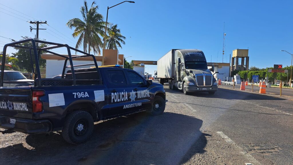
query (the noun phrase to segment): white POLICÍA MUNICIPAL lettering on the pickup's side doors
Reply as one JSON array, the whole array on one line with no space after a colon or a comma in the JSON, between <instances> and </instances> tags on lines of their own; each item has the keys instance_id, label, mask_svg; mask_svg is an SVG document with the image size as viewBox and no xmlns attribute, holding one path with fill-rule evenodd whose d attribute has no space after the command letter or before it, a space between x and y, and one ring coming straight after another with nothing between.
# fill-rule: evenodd
<instances>
[{"instance_id":1,"label":"white POLIC\u00cdA MUNICIPAL lettering on the pickup's side doors","mask_svg":"<svg viewBox=\"0 0 293 165\"><path fill-rule=\"evenodd\" d=\"M132 91L133 92L133 91ZM128 93L132 93L132 92L128 92ZM135 93L135 92L134 92ZM128 100L128 96L127 96L127 91L123 91L123 92L115 92L115 93L111 93L111 102L119 102L119 101L127 101ZM145 97L151 97L149 94L149 90L142 90L142 91L137 91L137 98L145 98Z\"/></svg>"}]
</instances>

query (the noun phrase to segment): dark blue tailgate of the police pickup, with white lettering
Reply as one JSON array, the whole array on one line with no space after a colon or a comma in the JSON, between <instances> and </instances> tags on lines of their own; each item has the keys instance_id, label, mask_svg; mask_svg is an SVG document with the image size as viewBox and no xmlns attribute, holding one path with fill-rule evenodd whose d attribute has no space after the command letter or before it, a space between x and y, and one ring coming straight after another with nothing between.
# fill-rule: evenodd
<instances>
[{"instance_id":1,"label":"dark blue tailgate of the police pickup, with white lettering","mask_svg":"<svg viewBox=\"0 0 293 165\"><path fill-rule=\"evenodd\" d=\"M31 87L0 88L0 115L33 118Z\"/></svg>"}]
</instances>

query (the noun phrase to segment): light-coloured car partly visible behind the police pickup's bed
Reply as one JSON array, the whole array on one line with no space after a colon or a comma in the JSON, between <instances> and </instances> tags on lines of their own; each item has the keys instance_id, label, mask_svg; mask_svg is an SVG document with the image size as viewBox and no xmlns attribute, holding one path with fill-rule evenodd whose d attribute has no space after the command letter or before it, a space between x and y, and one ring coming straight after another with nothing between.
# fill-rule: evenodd
<instances>
[{"instance_id":1,"label":"light-coloured car partly visible behind the police pickup's bed","mask_svg":"<svg viewBox=\"0 0 293 165\"><path fill-rule=\"evenodd\" d=\"M0 71L1 73L1 71ZM4 87L8 86L33 86L34 80L27 79L21 72L5 70L4 71L4 81L10 81L8 83L4 83ZM26 82L24 82L26 81Z\"/></svg>"}]
</instances>

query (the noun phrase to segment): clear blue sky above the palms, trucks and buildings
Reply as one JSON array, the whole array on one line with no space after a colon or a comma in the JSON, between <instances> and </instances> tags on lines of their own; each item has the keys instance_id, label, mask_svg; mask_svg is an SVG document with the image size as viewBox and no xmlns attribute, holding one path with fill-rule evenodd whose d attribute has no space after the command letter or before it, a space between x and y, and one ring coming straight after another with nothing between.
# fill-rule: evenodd
<instances>
[{"instance_id":1,"label":"clear blue sky above the palms, trucks and buildings","mask_svg":"<svg viewBox=\"0 0 293 165\"><path fill-rule=\"evenodd\" d=\"M98 12L106 19L107 6L113 6L121 1L97 0ZM292 0L134 1L135 4L123 3L109 9L108 15L108 22L118 24L122 35L127 38L126 45L123 45L119 52L125 57L132 56L127 58L128 61L132 59L158 60L171 49L201 49L207 61L222 62L225 22L224 62L229 62L229 54L232 54L232 50L248 48L250 66L265 68L272 67L273 64L286 66L291 63L290 55L280 50L293 53ZM88 1L88 4L91 2ZM35 31L33 31L34 34L30 33L29 26L32 25L25 21L28 19L33 21L35 18L47 21L50 26L44 26L52 30L40 30L40 38L74 46L77 39L71 37L73 30L67 28L65 24L71 18L81 18L79 9L82 5L82 0L1 0L0 35L15 40L21 39L20 36L33 38ZM40 28L45 27L40 26ZM9 40L0 37L0 43L5 42ZM0 44L0 46L3 45ZM10 49L8 52L14 52L14 50ZM154 70L156 66L146 67L146 71L151 74Z\"/></svg>"}]
</instances>

